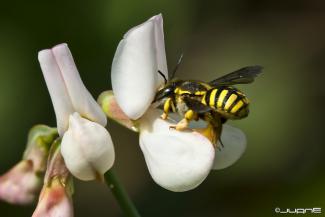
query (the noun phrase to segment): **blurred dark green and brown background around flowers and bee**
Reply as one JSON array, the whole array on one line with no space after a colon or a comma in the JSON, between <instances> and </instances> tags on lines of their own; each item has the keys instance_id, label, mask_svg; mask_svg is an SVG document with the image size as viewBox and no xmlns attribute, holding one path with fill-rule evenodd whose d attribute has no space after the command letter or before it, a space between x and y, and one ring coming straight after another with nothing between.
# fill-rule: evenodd
<instances>
[{"instance_id":1,"label":"blurred dark green and brown background around flowers and bee","mask_svg":"<svg viewBox=\"0 0 325 217\"><path fill-rule=\"evenodd\" d=\"M173 193L148 173L138 136L115 123L115 169L143 217L278 216L274 209L322 207L325 212L324 1L2 1L0 6L0 172L23 153L37 123L55 115L37 52L67 42L84 83L97 97L111 88L119 40L149 17L164 16L172 69L184 79L212 80L247 65L264 66L247 119L232 122L248 137L234 166L212 171L195 190ZM76 217L122 216L96 182L76 181ZM30 216L34 206L0 202L0 216ZM306 215L305 215L306 216Z\"/></svg>"}]
</instances>

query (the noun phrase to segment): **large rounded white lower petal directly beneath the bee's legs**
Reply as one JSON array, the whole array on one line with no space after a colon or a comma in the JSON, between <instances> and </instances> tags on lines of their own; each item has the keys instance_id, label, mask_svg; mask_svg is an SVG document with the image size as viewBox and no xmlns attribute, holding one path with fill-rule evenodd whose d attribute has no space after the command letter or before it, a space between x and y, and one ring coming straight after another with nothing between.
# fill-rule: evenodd
<instances>
[{"instance_id":1,"label":"large rounded white lower petal directly beneath the bee's legs","mask_svg":"<svg viewBox=\"0 0 325 217\"><path fill-rule=\"evenodd\" d=\"M148 111L141 119L140 147L154 181L171 191L188 191L209 174L215 149L196 132L170 130L174 123Z\"/></svg>"}]
</instances>

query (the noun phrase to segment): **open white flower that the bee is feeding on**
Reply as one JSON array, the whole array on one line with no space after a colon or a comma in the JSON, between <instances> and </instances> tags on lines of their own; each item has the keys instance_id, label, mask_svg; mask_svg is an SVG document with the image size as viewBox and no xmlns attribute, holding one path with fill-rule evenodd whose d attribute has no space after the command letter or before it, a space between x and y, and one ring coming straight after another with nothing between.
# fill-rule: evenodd
<instances>
[{"instance_id":1,"label":"open white flower that the bee is feeding on","mask_svg":"<svg viewBox=\"0 0 325 217\"><path fill-rule=\"evenodd\" d=\"M124 114L135 120L132 129L138 127L140 131L140 147L157 184L176 192L191 190L207 177L214 164L224 168L239 159L246 143L238 144L242 146L239 152L232 147L216 151L200 133L170 130L175 122L160 119L162 111L149 108L157 89L164 84L158 70L168 79L161 15L132 28L118 45L112 64L112 87L122 111L118 111L109 92L103 93L99 101L105 113L124 126L130 128Z\"/></svg>"}]
</instances>

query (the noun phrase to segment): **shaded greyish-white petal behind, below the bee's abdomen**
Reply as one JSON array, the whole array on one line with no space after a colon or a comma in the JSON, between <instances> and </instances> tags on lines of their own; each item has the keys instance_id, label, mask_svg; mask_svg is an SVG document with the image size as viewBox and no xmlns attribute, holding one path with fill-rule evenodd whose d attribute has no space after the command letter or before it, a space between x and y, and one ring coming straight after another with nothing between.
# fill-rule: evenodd
<instances>
[{"instance_id":1,"label":"shaded greyish-white petal behind, below the bee's abdomen","mask_svg":"<svg viewBox=\"0 0 325 217\"><path fill-rule=\"evenodd\" d=\"M219 170L234 164L245 152L246 136L238 128L224 124L221 132L221 142L224 145L216 150L213 169ZM220 144L218 144L221 147Z\"/></svg>"}]
</instances>

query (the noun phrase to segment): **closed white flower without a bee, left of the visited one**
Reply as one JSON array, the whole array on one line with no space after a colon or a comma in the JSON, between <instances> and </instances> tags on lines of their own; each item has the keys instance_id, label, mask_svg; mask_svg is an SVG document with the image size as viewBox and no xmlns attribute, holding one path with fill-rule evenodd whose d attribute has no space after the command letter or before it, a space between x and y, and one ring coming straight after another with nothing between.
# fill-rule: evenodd
<instances>
[{"instance_id":1,"label":"closed white flower without a bee, left of the visited one","mask_svg":"<svg viewBox=\"0 0 325 217\"><path fill-rule=\"evenodd\" d=\"M68 169L82 180L98 178L111 168L115 156L105 114L84 86L66 44L40 51L38 59Z\"/></svg>"}]
</instances>

